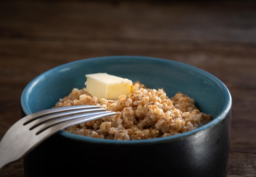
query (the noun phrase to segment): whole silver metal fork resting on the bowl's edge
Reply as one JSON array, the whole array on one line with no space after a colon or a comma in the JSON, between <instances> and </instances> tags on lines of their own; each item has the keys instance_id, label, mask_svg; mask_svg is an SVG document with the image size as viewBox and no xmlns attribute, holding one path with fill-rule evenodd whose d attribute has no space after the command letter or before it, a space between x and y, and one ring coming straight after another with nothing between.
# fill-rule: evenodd
<instances>
[{"instance_id":1,"label":"whole silver metal fork resting on the bowl's edge","mask_svg":"<svg viewBox=\"0 0 256 177\"><path fill-rule=\"evenodd\" d=\"M21 159L49 136L69 126L115 115L100 106L50 108L27 115L8 129L0 141L0 169Z\"/></svg>"}]
</instances>

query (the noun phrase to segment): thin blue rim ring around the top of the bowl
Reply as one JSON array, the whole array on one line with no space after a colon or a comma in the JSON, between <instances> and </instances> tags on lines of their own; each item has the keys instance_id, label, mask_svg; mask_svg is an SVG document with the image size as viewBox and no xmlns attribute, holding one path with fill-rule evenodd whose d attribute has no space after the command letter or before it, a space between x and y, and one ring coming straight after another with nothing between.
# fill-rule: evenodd
<instances>
[{"instance_id":1,"label":"thin blue rim ring around the top of the bowl","mask_svg":"<svg viewBox=\"0 0 256 177\"><path fill-rule=\"evenodd\" d=\"M76 135L73 133L68 133L68 132L64 132L64 131L60 131L57 134L64 136L66 138L69 139L75 139L78 141L85 141L85 142L91 142L91 143L96 143L96 144L154 144L154 143L159 143L159 142L170 142L173 141L175 139L180 139L180 138L184 138L184 137L188 137L191 135L196 135L197 133L202 132L204 129L207 129L211 126L215 126L216 124L218 124L219 122L221 122L223 119L225 119L225 117L227 117L227 115L229 114L229 112L231 112L231 107L232 107L232 97L231 97L231 93L229 91L229 89L227 88L227 86L220 80L218 79L216 76L212 75L211 73L204 71L198 67L189 65L189 64L185 64L182 62L177 62L174 60L167 60L164 58L155 58L155 57L147 57L147 56L136 56L136 55L110 55L110 56L102 56L102 57L94 57L94 58L85 58L85 59L81 59L81 60L76 60L76 61L72 61L72 62L67 62L65 64L61 64L58 65L52 69L49 69L43 73L41 73L40 75L36 76L33 80L31 80L23 89L21 97L20 97L20 104L21 104L21 108L22 111L25 113L25 115L29 115L32 113L32 111L29 109L29 107L25 104L25 100L27 99L26 93L29 92L29 89L31 86L33 86L34 84L37 83L37 80L42 77L43 75L50 73L50 72L54 72L56 70L59 69L63 69L66 66L69 66L70 64L77 64L80 62L85 62L88 61L90 62L91 60L106 60L106 59L110 59L110 58L124 58L124 59L128 59L128 58L136 58L136 59L140 59L140 60L157 60L157 61L161 61L161 62L168 62L168 63L176 63L176 64L180 64L180 65L184 65L186 67L190 67L193 70L197 70L198 72L203 73L204 75L208 75L209 77L211 77L213 80L215 80L216 82L218 82L218 84L220 84L220 86L222 87L222 90L225 92L224 95L225 97L225 104L224 104L224 108L222 109L222 111L220 111L219 115L217 115L217 117L215 117L213 120L211 120L210 122L208 122L207 124L204 124L203 126L200 126L199 128L196 128L194 130L191 131L187 131L181 134L177 134L177 135L171 135L168 137L159 137L159 138L152 138L152 139L141 139L141 140L129 140L129 141L124 141L124 140L114 140L114 139L99 139L99 138L93 138L93 137L85 137L85 136L81 136L81 135Z\"/></svg>"}]
</instances>

